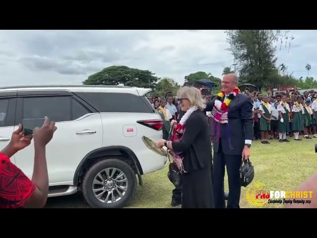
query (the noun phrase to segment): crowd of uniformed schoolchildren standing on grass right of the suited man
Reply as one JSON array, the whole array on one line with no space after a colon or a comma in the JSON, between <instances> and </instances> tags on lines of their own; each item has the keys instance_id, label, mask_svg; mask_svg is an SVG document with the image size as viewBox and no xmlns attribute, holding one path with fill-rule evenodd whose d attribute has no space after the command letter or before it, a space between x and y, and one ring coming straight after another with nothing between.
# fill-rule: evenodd
<instances>
[{"instance_id":1,"label":"crowd of uniformed schoolchildren standing on grass right of the suited man","mask_svg":"<svg viewBox=\"0 0 317 238\"><path fill-rule=\"evenodd\" d=\"M269 144L268 140L290 142L317 138L317 93L298 91L292 94L262 95L260 92L245 93L253 101L254 140ZM310 135L312 137L310 137Z\"/></svg>"}]
</instances>

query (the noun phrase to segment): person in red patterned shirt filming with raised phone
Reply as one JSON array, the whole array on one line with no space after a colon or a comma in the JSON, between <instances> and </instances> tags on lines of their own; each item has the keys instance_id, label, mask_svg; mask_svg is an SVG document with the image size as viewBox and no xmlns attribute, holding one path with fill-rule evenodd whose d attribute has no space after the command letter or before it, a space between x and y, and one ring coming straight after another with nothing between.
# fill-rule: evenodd
<instances>
[{"instance_id":1,"label":"person in red patterned shirt filming with raised phone","mask_svg":"<svg viewBox=\"0 0 317 238\"><path fill-rule=\"evenodd\" d=\"M11 182L26 184L26 188L21 190L16 186L15 190L4 189L0 193L0 208L42 208L45 206L49 192L46 146L52 140L56 129L55 122L45 117L44 119L23 119L22 124L19 124L18 129L12 133L9 144L0 152L0 158L2 164L3 162L7 164L5 168L11 168L8 172L11 175ZM10 157L29 146L32 139L34 140L34 168L31 180L11 163ZM17 200L12 203L5 192L17 194Z\"/></svg>"}]
</instances>

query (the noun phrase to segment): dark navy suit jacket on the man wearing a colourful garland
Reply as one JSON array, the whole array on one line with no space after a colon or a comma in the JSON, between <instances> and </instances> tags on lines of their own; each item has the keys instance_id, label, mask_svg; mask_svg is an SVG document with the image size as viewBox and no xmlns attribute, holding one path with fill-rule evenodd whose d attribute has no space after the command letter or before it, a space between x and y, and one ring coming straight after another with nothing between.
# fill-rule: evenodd
<instances>
[{"instance_id":1,"label":"dark navy suit jacket on the man wearing a colourful garland","mask_svg":"<svg viewBox=\"0 0 317 238\"><path fill-rule=\"evenodd\" d=\"M212 111L214 101L207 103L205 111ZM220 124L220 139L213 136L213 150L219 150L221 141L222 152L227 155L242 155L245 140L253 139L253 114L251 98L238 94L228 107L228 124ZM213 128L214 129L214 128ZM229 130L229 131L227 131ZM230 138L228 138L228 135ZM229 146L231 142L231 149Z\"/></svg>"}]
</instances>

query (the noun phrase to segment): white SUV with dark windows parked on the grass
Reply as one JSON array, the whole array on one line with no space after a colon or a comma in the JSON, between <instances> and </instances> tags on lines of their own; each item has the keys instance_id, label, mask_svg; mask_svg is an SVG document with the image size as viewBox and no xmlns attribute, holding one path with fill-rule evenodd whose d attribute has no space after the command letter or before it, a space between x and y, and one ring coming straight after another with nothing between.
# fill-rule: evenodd
<instances>
[{"instance_id":1,"label":"white SUV with dark windows parked on the grass","mask_svg":"<svg viewBox=\"0 0 317 238\"><path fill-rule=\"evenodd\" d=\"M48 116L57 131L47 146L49 197L81 190L92 207L124 206L136 176L164 168L167 158L149 150L142 136L162 138L163 122L145 94L126 86L0 88L0 150L23 119ZM11 158L32 177L34 146Z\"/></svg>"}]
</instances>

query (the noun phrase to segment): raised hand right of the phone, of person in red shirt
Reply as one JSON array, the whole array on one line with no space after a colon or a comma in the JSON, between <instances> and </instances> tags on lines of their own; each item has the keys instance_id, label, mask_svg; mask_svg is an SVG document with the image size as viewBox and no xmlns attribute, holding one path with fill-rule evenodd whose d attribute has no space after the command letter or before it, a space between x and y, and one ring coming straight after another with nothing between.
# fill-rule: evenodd
<instances>
[{"instance_id":1,"label":"raised hand right of the phone, of person in red shirt","mask_svg":"<svg viewBox=\"0 0 317 238\"><path fill-rule=\"evenodd\" d=\"M55 121L50 121L48 117L45 117L42 127L36 127L33 130L34 145L45 147L52 140L56 129Z\"/></svg>"}]
</instances>

